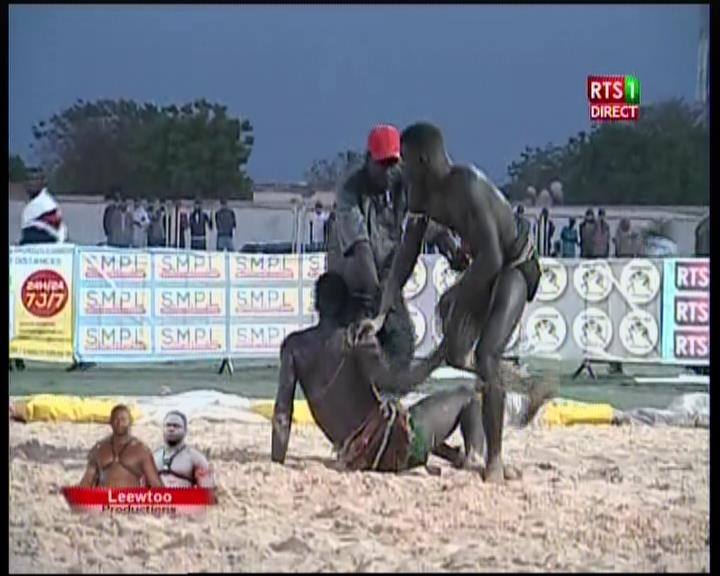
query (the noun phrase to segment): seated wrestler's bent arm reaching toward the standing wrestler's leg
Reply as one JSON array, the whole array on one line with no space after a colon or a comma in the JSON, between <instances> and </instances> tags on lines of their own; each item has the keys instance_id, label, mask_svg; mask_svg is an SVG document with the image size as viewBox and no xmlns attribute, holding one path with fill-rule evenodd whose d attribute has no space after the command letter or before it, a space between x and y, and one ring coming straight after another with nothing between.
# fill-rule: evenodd
<instances>
[{"instance_id":1,"label":"seated wrestler's bent arm reaching toward the standing wrestler's leg","mask_svg":"<svg viewBox=\"0 0 720 576\"><path fill-rule=\"evenodd\" d=\"M393 371L375 336L365 336L355 346L355 352L363 377L379 390L400 394L410 392L427 380L444 358L443 350L438 347L427 358L415 362L409 369Z\"/></svg>"}]
</instances>

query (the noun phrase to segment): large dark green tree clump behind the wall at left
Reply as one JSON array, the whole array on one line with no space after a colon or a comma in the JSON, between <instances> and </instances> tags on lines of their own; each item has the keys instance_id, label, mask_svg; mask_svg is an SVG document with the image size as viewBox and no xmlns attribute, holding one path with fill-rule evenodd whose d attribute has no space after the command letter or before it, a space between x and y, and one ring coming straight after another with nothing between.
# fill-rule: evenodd
<instances>
[{"instance_id":1,"label":"large dark green tree clump behind the wall at left","mask_svg":"<svg viewBox=\"0 0 720 576\"><path fill-rule=\"evenodd\" d=\"M33 127L35 148L59 192L252 198L249 120L204 99L181 107L78 100Z\"/></svg>"}]
</instances>

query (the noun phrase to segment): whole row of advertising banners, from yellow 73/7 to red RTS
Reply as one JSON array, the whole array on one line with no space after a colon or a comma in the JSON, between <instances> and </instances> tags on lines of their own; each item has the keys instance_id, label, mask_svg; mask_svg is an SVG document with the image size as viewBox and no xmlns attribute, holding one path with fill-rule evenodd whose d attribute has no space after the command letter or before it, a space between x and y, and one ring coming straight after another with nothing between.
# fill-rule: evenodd
<instances>
[{"instance_id":1,"label":"whole row of advertising banners, from yellow 73/7 to red RTS","mask_svg":"<svg viewBox=\"0 0 720 576\"><path fill-rule=\"evenodd\" d=\"M317 321L315 282L326 265L324 254L11 248L10 356L277 357L289 333ZM541 266L506 356L709 362L709 260L543 258ZM417 356L441 341L437 303L459 277L443 257L422 255L403 288Z\"/></svg>"}]
</instances>

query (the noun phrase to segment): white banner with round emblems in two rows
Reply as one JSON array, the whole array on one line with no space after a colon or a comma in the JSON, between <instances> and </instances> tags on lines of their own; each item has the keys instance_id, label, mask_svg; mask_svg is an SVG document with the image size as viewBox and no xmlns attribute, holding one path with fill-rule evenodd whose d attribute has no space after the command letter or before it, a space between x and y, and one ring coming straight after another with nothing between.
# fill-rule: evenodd
<instances>
[{"instance_id":1,"label":"white banner with round emblems in two rows","mask_svg":"<svg viewBox=\"0 0 720 576\"><path fill-rule=\"evenodd\" d=\"M427 355L442 339L435 310L459 278L441 256L423 256L404 288ZM662 270L650 260L541 259L543 275L533 302L510 335L506 356L542 356L582 362L661 358ZM427 327L430 327L428 329ZM422 337L420 337L422 335Z\"/></svg>"}]
</instances>

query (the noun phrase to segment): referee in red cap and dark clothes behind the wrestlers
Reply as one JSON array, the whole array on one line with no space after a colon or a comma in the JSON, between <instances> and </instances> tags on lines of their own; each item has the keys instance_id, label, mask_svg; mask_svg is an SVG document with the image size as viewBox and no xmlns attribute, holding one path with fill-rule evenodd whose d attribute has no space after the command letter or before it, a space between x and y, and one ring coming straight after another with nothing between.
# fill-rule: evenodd
<instances>
[{"instance_id":1,"label":"referee in red cap and dark clothes behind the wrestlers","mask_svg":"<svg viewBox=\"0 0 720 576\"><path fill-rule=\"evenodd\" d=\"M343 182L336 204L334 223L328 231L328 270L339 273L352 293L348 320L372 318L378 312L380 284L390 272L407 213L400 132L395 126L380 124L370 131L365 161ZM437 244L453 264L461 258L447 229L435 225L428 230L426 240ZM394 368L409 366L415 335L402 294L378 338Z\"/></svg>"}]
</instances>

